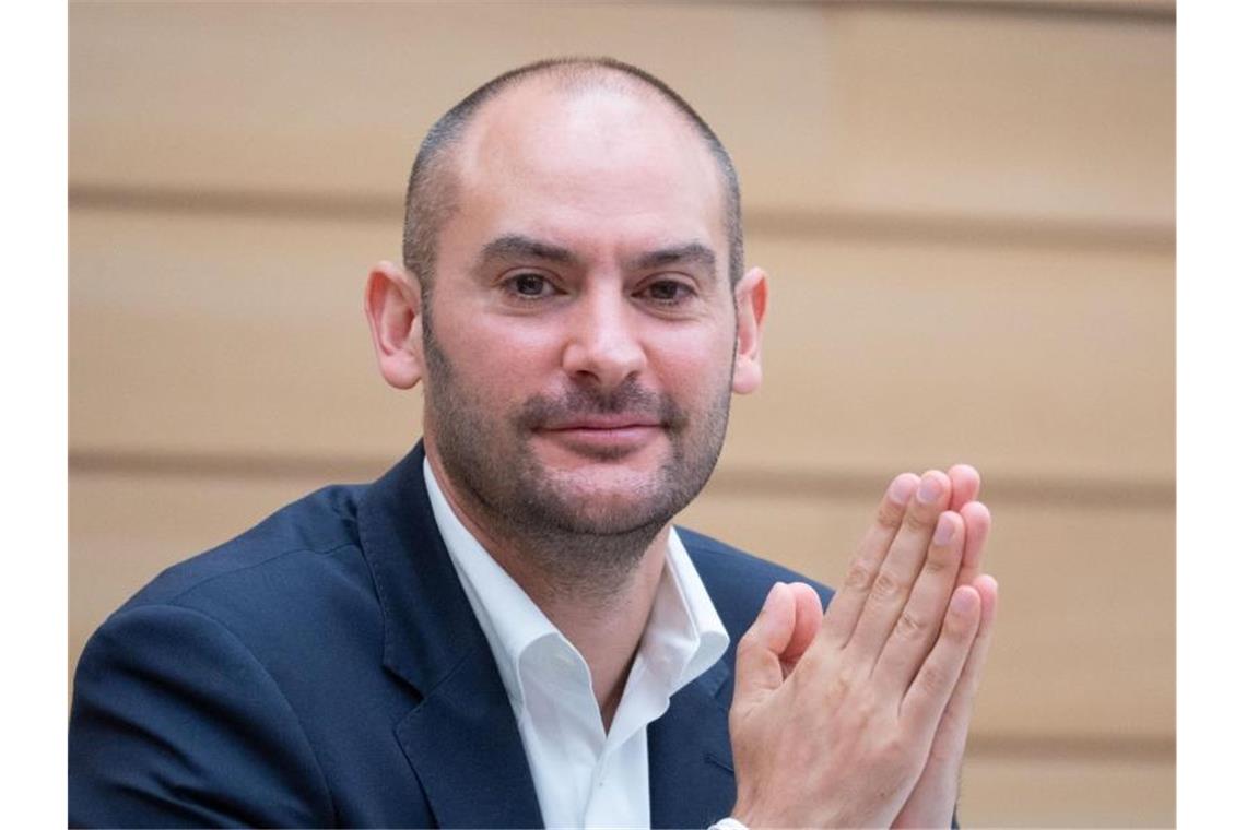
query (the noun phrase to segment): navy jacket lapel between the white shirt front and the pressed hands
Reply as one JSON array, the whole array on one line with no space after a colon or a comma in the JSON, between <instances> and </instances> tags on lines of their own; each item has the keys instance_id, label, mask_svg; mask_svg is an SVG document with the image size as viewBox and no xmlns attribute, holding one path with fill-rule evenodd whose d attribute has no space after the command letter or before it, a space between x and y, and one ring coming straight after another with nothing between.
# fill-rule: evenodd
<instances>
[{"instance_id":1,"label":"navy jacket lapel between the white shirt front and the pressed hands","mask_svg":"<svg viewBox=\"0 0 1246 830\"><path fill-rule=\"evenodd\" d=\"M735 804L726 712L730 669L719 661L670 698L649 724L649 821L654 828L708 828Z\"/></svg>"}]
</instances>

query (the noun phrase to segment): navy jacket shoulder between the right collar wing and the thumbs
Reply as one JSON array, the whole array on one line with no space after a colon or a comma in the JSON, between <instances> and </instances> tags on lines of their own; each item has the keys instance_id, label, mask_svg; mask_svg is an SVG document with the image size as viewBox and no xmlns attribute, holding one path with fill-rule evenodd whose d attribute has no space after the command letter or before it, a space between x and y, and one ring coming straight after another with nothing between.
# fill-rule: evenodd
<instances>
[{"instance_id":1,"label":"navy jacket shoulder between the right collar wing and the thumbs","mask_svg":"<svg viewBox=\"0 0 1246 830\"><path fill-rule=\"evenodd\" d=\"M678 528L678 533L733 640L753 625L775 582L807 582L822 599L824 607L831 601L830 587L790 567L688 528Z\"/></svg>"}]
</instances>

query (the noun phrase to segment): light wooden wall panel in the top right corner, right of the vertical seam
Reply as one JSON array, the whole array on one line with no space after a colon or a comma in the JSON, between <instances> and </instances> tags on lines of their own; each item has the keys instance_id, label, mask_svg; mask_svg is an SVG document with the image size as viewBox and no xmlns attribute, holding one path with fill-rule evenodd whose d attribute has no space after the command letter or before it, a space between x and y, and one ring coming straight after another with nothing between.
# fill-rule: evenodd
<instances>
[{"instance_id":1,"label":"light wooden wall panel in the top right corner, right of the vertical seam","mask_svg":"<svg viewBox=\"0 0 1246 830\"><path fill-rule=\"evenodd\" d=\"M1172 26L916 4L842 9L826 31L835 200L1171 225Z\"/></svg>"}]
</instances>

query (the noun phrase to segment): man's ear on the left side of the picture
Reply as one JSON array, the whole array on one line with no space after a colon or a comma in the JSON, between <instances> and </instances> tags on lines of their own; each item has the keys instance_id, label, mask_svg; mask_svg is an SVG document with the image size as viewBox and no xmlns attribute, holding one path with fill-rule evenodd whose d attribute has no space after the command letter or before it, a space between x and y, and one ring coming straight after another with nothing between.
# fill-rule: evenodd
<instances>
[{"instance_id":1,"label":"man's ear on the left side of the picture","mask_svg":"<svg viewBox=\"0 0 1246 830\"><path fill-rule=\"evenodd\" d=\"M406 269L381 261L368 275L364 314L381 377L396 389L410 389L424 377L420 302L420 287Z\"/></svg>"}]
</instances>

